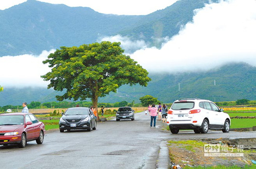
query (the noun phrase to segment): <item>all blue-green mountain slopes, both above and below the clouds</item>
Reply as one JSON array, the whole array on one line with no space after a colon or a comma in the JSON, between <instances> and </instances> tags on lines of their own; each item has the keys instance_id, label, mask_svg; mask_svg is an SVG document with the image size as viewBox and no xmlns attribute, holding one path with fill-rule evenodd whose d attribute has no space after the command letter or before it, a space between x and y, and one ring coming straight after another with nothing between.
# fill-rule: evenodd
<instances>
[{"instance_id":1,"label":"all blue-green mountain slopes, both above and below the clouds","mask_svg":"<svg viewBox=\"0 0 256 169\"><path fill-rule=\"evenodd\" d=\"M217 1L217 0L211 0ZM209 0L178 0L171 6L148 15L114 15L85 7L54 5L28 0L0 10L0 57L40 54L60 46L94 43L103 36L120 34L132 40L144 40L159 47L162 38L176 35L180 27L192 21L194 10ZM212 101L256 100L256 67L233 63L207 72L153 74L147 87L124 85L99 102L139 103L144 95L157 97L163 103L180 98L204 98ZM0 106L20 105L32 101L56 101L61 94L45 88L8 88L0 92Z\"/></svg>"}]
</instances>

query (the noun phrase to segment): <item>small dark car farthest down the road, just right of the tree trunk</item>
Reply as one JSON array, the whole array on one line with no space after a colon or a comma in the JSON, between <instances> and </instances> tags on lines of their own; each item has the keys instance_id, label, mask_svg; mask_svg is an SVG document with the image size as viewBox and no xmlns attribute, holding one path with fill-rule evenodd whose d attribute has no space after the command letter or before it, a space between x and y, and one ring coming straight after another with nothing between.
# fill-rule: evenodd
<instances>
[{"instance_id":1,"label":"small dark car farthest down the road, just right of the tree trunk","mask_svg":"<svg viewBox=\"0 0 256 169\"><path fill-rule=\"evenodd\" d=\"M120 121L121 119L134 120L134 110L131 107L119 107L115 117L116 121Z\"/></svg>"}]
</instances>

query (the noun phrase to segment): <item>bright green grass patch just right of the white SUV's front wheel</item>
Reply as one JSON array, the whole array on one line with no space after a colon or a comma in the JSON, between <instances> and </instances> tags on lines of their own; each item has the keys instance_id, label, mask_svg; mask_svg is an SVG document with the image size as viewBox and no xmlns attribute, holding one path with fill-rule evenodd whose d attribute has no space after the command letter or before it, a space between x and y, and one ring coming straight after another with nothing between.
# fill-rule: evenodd
<instances>
[{"instance_id":1,"label":"bright green grass patch just right of the white SUV's front wheel","mask_svg":"<svg viewBox=\"0 0 256 169\"><path fill-rule=\"evenodd\" d=\"M256 126L256 118L232 118L231 129L235 128L250 128Z\"/></svg>"}]
</instances>

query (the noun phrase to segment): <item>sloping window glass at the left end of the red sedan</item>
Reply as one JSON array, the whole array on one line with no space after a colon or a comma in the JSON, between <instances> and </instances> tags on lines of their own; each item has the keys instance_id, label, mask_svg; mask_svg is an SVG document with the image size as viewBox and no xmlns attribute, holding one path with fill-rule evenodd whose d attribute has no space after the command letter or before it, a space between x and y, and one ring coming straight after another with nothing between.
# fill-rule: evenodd
<instances>
[{"instance_id":1,"label":"sloping window glass at the left end of the red sedan","mask_svg":"<svg viewBox=\"0 0 256 169\"><path fill-rule=\"evenodd\" d=\"M8 115L0 116L0 125L23 125L24 116L22 115Z\"/></svg>"}]
</instances>

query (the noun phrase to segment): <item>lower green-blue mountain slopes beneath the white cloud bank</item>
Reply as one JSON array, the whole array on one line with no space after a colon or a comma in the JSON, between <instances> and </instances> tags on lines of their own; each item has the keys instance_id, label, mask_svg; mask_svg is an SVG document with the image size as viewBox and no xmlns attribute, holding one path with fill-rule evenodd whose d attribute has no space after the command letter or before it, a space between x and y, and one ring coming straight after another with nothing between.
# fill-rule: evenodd
<instances>
[{"instance_id":1,"label":"lower green-blue mountain slopes beneath the white cloud bank","mask_svg":"<svg viewBox=\"0 0 256 169\"><path fill-rule=\"evenodd\" d=\"M101 103L127 101L139 103L139 98L152 95L163 103L172 103L181 98L201 98L215 102L236 101L238 99L256 100L256 67L245 63L233 63L197 73L149 74L152 81L147 87L139 85L121 86L117 93L100 98ZM215 85L214 85L215 80ZM180 84L180 90L179 90ZM0 106L20 105L23 102L56 101L61 94L45 88L5 88L0 92Z\"/></svg>"}]
</instances>

